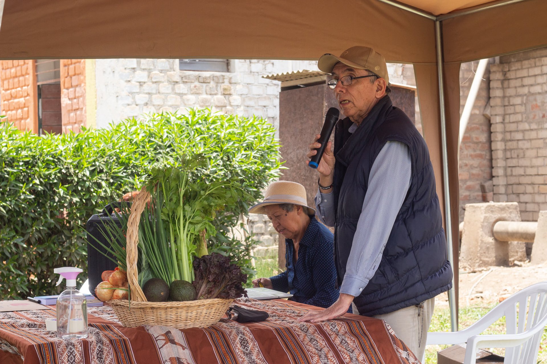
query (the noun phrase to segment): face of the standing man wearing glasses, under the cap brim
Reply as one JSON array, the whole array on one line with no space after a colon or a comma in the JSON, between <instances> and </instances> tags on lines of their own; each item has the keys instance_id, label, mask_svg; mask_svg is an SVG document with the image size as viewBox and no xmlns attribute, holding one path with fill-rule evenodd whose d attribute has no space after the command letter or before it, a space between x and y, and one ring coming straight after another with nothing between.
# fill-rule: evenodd
<instances>
[{"instance_id":1,"label":"face of the standing man wearing glasses, under the cap brim","mask_svg":"<svg viewBox=\"0 0 547 364\"><path fill-rule=\"evenodd\" d=\"M344 63L338 62L333 69L333 79L341 79L344 76L366 76L369 72L364 69L355 69ZM338 100L340 110L351 121L360 124L363 118L369 114L374 105L385 94L381 80L370 82L370 77L352 80L351 85L344 86L338 82L334 88L334 96ZM384 81L385 83L385 81Z\"/></svg>"}]
</instances>

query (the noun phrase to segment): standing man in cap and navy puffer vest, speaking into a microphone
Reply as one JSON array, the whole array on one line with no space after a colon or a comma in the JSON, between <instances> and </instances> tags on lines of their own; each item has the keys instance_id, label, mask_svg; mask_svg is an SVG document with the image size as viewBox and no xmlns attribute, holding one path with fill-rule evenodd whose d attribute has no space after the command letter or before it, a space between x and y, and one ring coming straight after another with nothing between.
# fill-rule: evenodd
<instances>
[{"instance_id":1,"label":"standing man in cap and navy puffer vest, speaking into a microphone","mask_svg":"<svg viewBox=\"0 0 547 364\"><path fill-rule=\"evenodd\" d=\"M317 65L332 75L328 86L345 116L334 148L329 142L319 162L316 196L318 216L335 227L340 296L299 320L336 318L353 301L359 314L386 320L421 358L434 297L452 284L427 146L392 105L380 53L354 46L340 57L323 55Z\"/></svg>"}]
</instances>

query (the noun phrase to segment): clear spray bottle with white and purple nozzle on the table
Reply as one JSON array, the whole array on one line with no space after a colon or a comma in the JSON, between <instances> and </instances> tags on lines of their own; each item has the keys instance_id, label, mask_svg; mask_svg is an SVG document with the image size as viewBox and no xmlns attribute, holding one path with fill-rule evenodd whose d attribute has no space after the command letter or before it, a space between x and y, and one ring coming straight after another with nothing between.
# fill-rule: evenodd
<instances>
[{"instance_id":1,"label":"clear spray bottle with white and purple nozzle on the table","mask_svg":"<svg viewBox=\"0 0 547 364\"><path fill-rule=\"evenodd\" d=\"M67 289L57 297L57 337L61 339L83 339L88 337L88 306L85 296L76 289L76 277L82 269L75 267L55 268L61 284L67 280Z\"/></svg>"}]
</instances>

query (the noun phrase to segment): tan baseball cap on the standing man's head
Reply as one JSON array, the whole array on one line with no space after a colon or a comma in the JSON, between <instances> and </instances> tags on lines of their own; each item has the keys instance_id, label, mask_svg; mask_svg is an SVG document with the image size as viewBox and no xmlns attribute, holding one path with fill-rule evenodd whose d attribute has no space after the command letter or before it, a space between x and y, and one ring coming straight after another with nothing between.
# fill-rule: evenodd
<instances>
[{"instance_id":1,"label":"tan baseball cap on the standing man's head","mask_svg":"<svg viewBox=\"0 0 547 364\"><path fill-rule=\"evenodd\" d=\"M317 67L324 73L333 73L334 65L338 62L342 62L353 68L366 69L379 75L389 83L386 59L372 48L356 45L346 49L340 57L325 53L319 57Z\"/></svg>"}]
</instances>

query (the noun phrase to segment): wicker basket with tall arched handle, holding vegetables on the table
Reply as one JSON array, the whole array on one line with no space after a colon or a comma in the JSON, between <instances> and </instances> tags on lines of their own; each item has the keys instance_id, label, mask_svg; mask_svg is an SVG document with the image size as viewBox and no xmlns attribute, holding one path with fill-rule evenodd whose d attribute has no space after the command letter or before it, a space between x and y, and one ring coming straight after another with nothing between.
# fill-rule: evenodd
<instances>
[{"instance_id":1,"label":"wicker basket with tall arched handle, holding vegetables on the table","mask_svg":"<svg viewBox=\"0 0 547 364\"><path fill-rule=\"evenodd\" d=\"M121 324L127 327L163 325L188 329L216 324L234 300L148 302L144 297L137 281L137 243L139 220L149 200L150 194L143 188L133 201L127 220L127 281L131 288L131 307L127 300L110 300L108 304L114 309Z\"/></svg>"}]
</instances>

